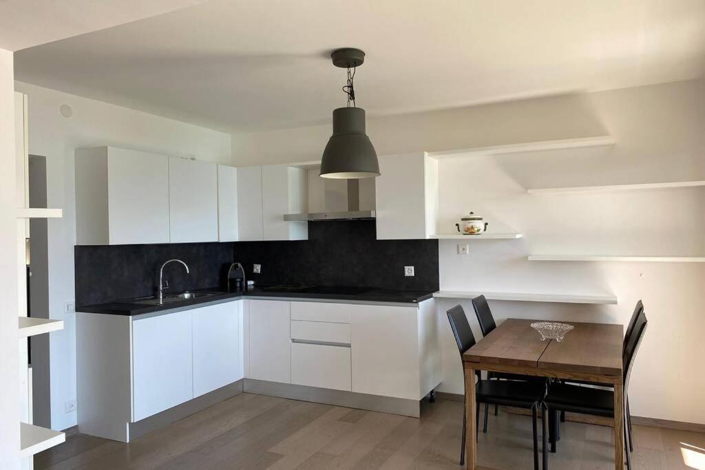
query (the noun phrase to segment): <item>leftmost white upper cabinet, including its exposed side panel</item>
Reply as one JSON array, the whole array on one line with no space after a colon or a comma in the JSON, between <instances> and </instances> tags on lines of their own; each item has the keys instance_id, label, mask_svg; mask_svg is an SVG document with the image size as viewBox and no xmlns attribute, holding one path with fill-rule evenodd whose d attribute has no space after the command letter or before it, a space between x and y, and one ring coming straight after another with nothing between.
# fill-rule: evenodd
<instances>
[{"instance_id":1,"label":"leftmost white upper cabinet, including its exposed side panel","mask_svg":"<svg viewBox=\"0 0 705 470\"><path fill-rule=\"evenodd\" d=\"M168 178L166 155L76 149L76 243L168 243Z\"/></svg>"}]
</instances>

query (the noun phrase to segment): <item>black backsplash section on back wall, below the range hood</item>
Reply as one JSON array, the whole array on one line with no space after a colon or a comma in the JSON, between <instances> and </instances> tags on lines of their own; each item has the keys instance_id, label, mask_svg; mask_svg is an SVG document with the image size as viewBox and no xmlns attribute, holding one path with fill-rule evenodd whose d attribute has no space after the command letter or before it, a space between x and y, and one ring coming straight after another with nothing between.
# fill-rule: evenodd
<instances>
[{"instance_id":1,"label":"black backsplash section on back wall, below the range hood","mask_svg":"<svg viewBox=\"0 0 705 470\"><path fill-rule=\"evenodd\" d=\"M235 261L258 285L439 289L438 240L376 240L374 220L309 222L300 242L235 242ZM254 263L261 274L252 274Z\"/></svg>"}]
</instances>

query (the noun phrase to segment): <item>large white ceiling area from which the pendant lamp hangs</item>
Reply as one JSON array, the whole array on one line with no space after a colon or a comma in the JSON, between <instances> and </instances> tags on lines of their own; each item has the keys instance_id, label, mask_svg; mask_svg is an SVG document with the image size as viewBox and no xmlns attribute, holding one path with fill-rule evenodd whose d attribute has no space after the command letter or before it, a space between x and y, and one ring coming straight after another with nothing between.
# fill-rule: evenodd
<instances>
[{"instance_id":1,"label":"large white ceiling area from which the pendant lamp hangs","mask_svg":"<svg viewBox=\"0 0 705 470\"><path fill-rule=\"evenodd\" d=\"M210 0L16 54L23 82L219 130L705 75L704 0Z\"/></svg>"}]
</instances>

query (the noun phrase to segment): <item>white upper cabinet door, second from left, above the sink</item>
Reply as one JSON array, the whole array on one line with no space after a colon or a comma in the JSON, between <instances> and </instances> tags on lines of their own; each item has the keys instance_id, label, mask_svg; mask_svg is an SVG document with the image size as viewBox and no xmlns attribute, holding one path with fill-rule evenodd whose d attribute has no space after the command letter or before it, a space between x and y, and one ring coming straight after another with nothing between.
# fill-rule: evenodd
<instances>
[{"instance_id":1,"label":"white upper cabinet door, second from left, above the sink","mask_svg":"<svg viewBox=\"0 0 705 470\"><path fill-rule=\"evenodd\" d=\"M218 240L215 163L169 157L169 233L172 243Z\"/></svg>"}]
</instances>

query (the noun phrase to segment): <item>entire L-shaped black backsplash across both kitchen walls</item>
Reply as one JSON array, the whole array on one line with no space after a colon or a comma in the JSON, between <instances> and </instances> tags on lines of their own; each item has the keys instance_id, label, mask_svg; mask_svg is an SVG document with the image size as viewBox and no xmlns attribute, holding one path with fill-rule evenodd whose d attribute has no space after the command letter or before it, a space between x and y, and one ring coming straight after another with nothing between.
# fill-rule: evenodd
<instances>
[{"instance_id":1,"label":"entire L-shaped black backsplash across both kitchen walls","mask_svg":"<svg viewBox=\"0 0 705 470\"><path fill-rule=\"evenodd\" d=\"M439 289L437 240L376 240L374 221L309 222L300 242L178 243L169 245L77 246L75 301L78 306L153 295L159 267L171 291L221 285L223 266L240 261L257 285L308 284L384 289ZM252 264L262 273L253 274ZM415 276L404 276L414 266Z\"/></svg>"}]
</instances>

